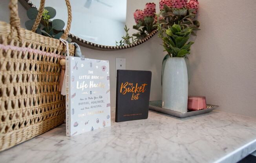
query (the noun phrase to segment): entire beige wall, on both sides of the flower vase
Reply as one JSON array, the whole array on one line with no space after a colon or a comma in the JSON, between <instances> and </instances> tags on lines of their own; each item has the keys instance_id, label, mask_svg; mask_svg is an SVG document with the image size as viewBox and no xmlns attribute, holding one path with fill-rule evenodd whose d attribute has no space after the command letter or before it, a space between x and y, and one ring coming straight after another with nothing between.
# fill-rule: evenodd
<instances>
[{"instance_id":1,"label":"entire beige wall, on both sides of the flower vase","mask_svg":"<svg viewBox=\"0 0 256 163\"><path fill-rule=\"evenodd\" d=\"M1 2L0 20L9 19L8 1ZM158 6L157 1L152 2ZM219 110L256 117L256 3L254 0L199 0L199 3L201 31L189 56L189 94L206 96L207 103L219 105ZM26 11L19 8L24 25ZM142 45L121 51L81 48L85 57L110 60L112 107L115 107L116 57L126 58L126 69L152 71L150 100L161 99L164 53L160 43L154 36Z\"/></svg>"}]
</instances>

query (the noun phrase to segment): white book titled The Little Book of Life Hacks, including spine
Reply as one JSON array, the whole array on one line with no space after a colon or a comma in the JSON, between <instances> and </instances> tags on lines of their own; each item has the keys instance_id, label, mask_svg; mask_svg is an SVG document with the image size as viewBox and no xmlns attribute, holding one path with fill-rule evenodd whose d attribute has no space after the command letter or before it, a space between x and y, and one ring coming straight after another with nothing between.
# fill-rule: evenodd
<instances>
[{"instance_id":1,"label":"white book titled The Little Book of Life Hacks, including spine","mask_svg":"<svg viewBox=\"0 0 256 163\"><path fill-rule=\"evenodd\" d=\"M66 135L110 126L109 62L68 56L65 73Z\"/></svg>"}]
</instances>

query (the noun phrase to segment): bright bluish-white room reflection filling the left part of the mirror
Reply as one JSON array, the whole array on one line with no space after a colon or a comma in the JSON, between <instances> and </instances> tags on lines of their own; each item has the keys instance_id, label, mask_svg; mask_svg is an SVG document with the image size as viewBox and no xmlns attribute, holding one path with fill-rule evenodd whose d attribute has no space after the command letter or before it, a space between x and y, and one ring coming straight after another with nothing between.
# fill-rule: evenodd
<instances>
[{"instance_id":1,"label":"bright bluish-white room reflection filling the left part of the mirror","mask_svg":"<svg viewBox=\"0 0 256 163\"><path fill-rule=\"evenodd\" d=\"M40 0L32 0L37 8ZM71 0L72 24L70 33L86 41L115 45L115 40L125 34L126 0ZM65 1L46 0L45 6L56 9L54 19L66 22L68 18Z\"/></svg>"}]
</instances>

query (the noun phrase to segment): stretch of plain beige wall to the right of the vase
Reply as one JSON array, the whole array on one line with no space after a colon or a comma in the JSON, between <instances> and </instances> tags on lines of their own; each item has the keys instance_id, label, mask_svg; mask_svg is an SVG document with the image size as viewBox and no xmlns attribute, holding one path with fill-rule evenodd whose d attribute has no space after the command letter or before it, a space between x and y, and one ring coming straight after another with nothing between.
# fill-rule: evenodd
<instances>
[{"instance_id":1,"label":"stretch of plain beige wall to the right of the vase","mask_svg":"<svg viewBox=\"0 0 256 163\"><path fill-rule=\"evenodd\" d=\"M255 0L199 0L199 7L189 94L256 117Z\"/></svg>"}]
</instances>

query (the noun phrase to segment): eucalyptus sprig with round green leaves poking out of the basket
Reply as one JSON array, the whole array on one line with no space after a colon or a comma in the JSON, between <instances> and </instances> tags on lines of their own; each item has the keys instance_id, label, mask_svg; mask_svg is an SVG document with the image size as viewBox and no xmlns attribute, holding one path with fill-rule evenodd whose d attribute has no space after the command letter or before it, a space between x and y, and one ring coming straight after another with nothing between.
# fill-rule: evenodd
<instances>
[{"instance_id":1,"label":"eucalyptus sprig with round green leaves poking out of the basket","mask_svg":"<svg viewBox=\"0 0 256 163\"><path fill-rule=\"evenodd\" d=\"M35 24L35 19L37 18L38 10L35 8L30 8L27 10L27 17L30 20L25 22L25 26L28 30L31 30L33 25ZM56 16L56 10L53 7L44 7L44 12L42 14L42 20L38 25L36 33L42 34L44 36L48 36L51 38L59 39L63 31L62 29L65 26L63 20L54 19L51 21L52 18ZM67 41L70 43L71 38L68 38Z\"/></svg>"}]
</instances>

